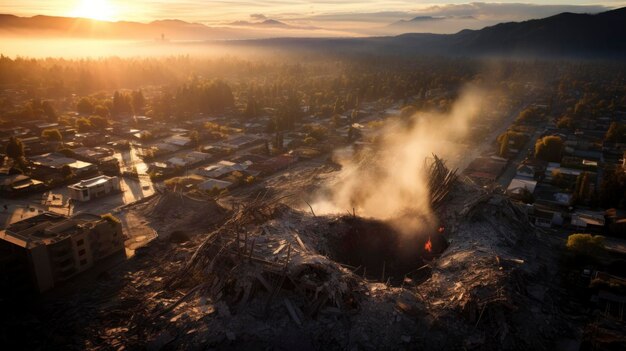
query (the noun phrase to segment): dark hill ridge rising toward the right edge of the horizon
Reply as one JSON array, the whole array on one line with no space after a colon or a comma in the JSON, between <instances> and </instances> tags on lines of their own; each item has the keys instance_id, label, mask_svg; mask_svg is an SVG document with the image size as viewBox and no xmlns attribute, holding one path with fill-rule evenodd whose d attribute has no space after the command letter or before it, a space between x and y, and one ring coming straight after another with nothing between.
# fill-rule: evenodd
<instances>
[{"instance_id":1,"label":"dark hill ridge rising toward the right edge of the horizon","mask_svg":"<svg viewBox=\"0 0 626 351\"><path fill-rule=\"evenodd\" d=\"M429 19L419 18L417 21ZM252 44L251 42L247 42ZM259 46L333 53L626 58L626 8L595 15L562 13L456 34L403 34L351 39L267 39Z\"/></svg>"}]
</instances>

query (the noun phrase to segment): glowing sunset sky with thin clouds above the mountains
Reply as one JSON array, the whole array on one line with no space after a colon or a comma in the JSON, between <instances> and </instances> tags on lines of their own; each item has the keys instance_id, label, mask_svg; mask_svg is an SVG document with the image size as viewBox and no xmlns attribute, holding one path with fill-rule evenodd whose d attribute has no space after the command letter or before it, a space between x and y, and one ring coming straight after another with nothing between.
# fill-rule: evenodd
<instances>
[{"instance_id":1,"label":"glowing sunset sky with thin clouds above the mountains","mask_svg":"<svg viewBox=\"0 0 626 351\"><path fill-rule=\"evenodd\" d=\"M297 26L384 34L393 31L389 24L416 16L432 16L434 19L404 25L411 26L413 31L451 33L560 12L597 13L622 6L626 6L626 0L499 0L497 3L438 0L0 0L0 13L137 22L180 19L210 26L271 18Z\"/></svg>"}]
</instances>

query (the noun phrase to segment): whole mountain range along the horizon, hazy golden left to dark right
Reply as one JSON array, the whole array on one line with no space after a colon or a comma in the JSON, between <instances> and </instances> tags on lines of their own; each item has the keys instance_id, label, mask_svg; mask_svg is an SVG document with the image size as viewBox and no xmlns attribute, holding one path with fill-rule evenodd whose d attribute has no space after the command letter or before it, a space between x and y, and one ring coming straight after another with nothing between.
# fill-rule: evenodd
<instances>
[{"instance_id":1,"label":"whole mountain range along the horizon, hazy golden left to dark right","mask_svg":"<svg viewBox=\"0 0 626 351\"><path fill-rule=\"evenodd\" d=\"M404 22L442 20L438 17L416 17ZM404 24L406 23L396 23ZM0 15L0 35L13 36L30 34L152 40L161 38L163 34L172 40L240 39L229 40L229 45L278 46L327 52L626 57L626 7L599 14L561 13L543 19L500 23L480 30L462 30L455 34L413 33L366 38L289 38L290 35L285 34L289 32L287 28L291 30L298 28L299 36L307 33L308 36L316 36L320 33L271 19L262 22L240 21L224 27L208 27L179 20L136 23ZM265 32L259 34L261 31ZM272 36L287 38L267 39Z\"/></svg>"}]
</instances>

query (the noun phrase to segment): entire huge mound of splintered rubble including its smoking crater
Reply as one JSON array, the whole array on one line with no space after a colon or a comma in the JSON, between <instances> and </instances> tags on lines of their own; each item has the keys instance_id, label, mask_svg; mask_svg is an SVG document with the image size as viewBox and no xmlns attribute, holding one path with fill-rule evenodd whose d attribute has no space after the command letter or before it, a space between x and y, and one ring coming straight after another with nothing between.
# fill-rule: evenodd
<instances>
[{"instance_id":1,"label":"entire huge mound of splintered rubble including its smoking crater","mask_svg":"<svg viewBox=\"0 0 626 351\"><path fill-rule=\"evenodd\" d=\"M67 325L53 345L96 350L551 350L575 340L555 250L525 212L442 163L432 174L438 226L408 238L355 213L294 209L293 194L260 193L230 211L158 195L138 208L166 232L201 220L186 209L223 220L138 249L93 293L16 327Z\"/></svg>"}]
</instances>

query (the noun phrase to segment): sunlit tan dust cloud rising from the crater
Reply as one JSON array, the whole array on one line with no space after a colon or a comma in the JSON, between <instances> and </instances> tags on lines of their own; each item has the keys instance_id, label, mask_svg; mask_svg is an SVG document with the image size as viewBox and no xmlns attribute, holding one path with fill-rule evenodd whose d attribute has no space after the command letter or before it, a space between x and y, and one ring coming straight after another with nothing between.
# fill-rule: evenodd
<instances>
[{"instance_id":1,"label":"sunlit tan dust cloud rising from the crater","mask_svg":"<svg viewBox=\"0 0 626 351\"><path fill-rule=\"evenodd\" d=\"M450 168L463 159L467 146L460 142L485 107L486 96L483 89L468 86L448 113L390 118L373 136L371 149L336 153L342 169L312 204L315 213L354 210L363 217L389 220L407 234L435 228L425 165L433 154Z\"/></svg>"}]
</instances>

